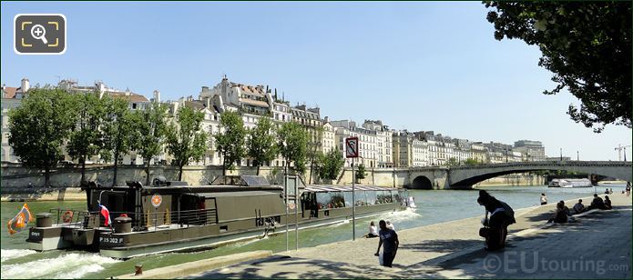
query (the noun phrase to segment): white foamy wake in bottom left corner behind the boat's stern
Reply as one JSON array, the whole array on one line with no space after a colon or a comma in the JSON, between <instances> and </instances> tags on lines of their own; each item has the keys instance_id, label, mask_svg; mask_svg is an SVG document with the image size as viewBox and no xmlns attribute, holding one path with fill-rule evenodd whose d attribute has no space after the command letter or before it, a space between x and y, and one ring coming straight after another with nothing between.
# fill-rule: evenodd
<instances>
[{"instance_id":1,"label":"white foamy wake in bottom left corner behind the boat's stern","mask_svg":"<svg viewBox=\"0 0 633 280\"><path fill-rule=\"evenodd\" d=\"M4 260L5 250L2 251ZM9 253L9 255L10 254L14 253ZM25 252L23 252L23 254L25 254ZM2 278L80 278L89 273L103 270L103 265L117 262L120 261L97 254L71 253L60 255L56 258L38 259L23 264L2 265L1 272Z\"/></svg>"}]
</instances>

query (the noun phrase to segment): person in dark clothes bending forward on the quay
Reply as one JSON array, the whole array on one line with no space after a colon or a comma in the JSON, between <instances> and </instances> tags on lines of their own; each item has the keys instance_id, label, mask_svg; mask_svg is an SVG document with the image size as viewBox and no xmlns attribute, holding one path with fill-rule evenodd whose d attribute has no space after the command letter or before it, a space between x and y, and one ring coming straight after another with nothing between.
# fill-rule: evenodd
<instances>
[{"instance_id":1,"label":"person in dark clothes bending forward on the quay","mask_svg":"<svg viewBox=\"0 0 633 280\"><path fill-rule=\"evenodd\" d=\"M480 235L485 237L485 249L494 251L505 247L507 226L516 223L515 211L510 205L488 194L485 190L479 191L477 203L485 207L484 230ZM488 213L490 218L488 219Z\"/></svg>"}]
</instances>

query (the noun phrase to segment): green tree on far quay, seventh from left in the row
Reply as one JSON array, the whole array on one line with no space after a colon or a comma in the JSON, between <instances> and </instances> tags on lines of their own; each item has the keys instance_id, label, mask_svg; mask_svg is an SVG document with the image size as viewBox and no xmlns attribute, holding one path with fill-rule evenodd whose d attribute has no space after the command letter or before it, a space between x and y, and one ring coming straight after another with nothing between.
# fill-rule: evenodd
<instances>
[{"instance_id":1,"label":"green tree on far quay, seventh from left in the row","mask_svg":"<svg viewBox=\"0 0 633 280\"><path fill-rule=\"evenodd\" d=\"M270 162L277 155L275 145L275 125L271 118L261 116L257 126L249 130L248 155L253 158L253 165L257 166L257 175L260 175L260 166Z\"/></svg>"}]
</instances>

